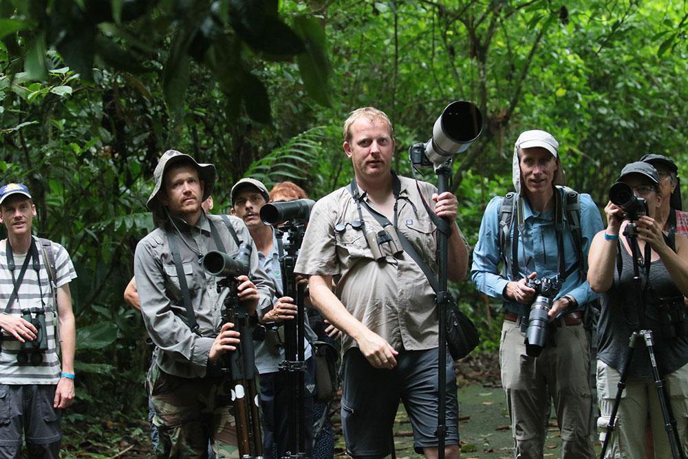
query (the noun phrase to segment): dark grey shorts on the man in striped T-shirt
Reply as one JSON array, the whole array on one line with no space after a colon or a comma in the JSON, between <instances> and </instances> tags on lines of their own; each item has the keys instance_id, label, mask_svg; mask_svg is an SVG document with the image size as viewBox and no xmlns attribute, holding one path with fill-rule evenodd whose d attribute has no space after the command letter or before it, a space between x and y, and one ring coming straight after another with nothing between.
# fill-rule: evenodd
<instances>
[{"instance_id":1,"label":"dark grey shorts on the man in striped T-shirt","mask_svg":"<svg viewBox=\"0 0 688 459\"><path fill-rule=\"evenodd\" d=\"M56 385L0 384L0 446L46 445L62 438L60 412L55 409Z\"/></svg>"}]
</instances>

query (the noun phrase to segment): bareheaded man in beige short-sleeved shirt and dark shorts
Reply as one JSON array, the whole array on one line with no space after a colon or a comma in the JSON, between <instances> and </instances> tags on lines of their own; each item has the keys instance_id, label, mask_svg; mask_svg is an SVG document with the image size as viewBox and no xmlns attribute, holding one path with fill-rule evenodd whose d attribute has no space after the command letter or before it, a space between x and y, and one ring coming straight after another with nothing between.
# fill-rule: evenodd
<instances>
[{"instance_id":1,"label":"bareheaded man in beige short-sleeved shirt and dark shorts","mask_svg":"<svg viewBox=\"0 0 688 459\"><path fill-rule=\"evenodd\" d=\"M413 445L438 456L438 313L435 292L416 261L402 250L402 233L436 266L436 228L416 182L391 170L394 135L387 115L365 107L344 123L344 151L354 178L317 202L294 270L310 275L314 307L342 330L342 425L354 458L391 453L400 400L413 427ZM458 200L420 182L434 212L451 222L449 279L460 281L468 253L455 223ZM356 198L354 198L356 197ZM365 205L363 204L365 202ZM376 220L382 215L389 224ZM336 290L332 292L332 279ZM458 458L458 403L447 350L447 426L444 454Z\"/></svg>"}]
</instances>

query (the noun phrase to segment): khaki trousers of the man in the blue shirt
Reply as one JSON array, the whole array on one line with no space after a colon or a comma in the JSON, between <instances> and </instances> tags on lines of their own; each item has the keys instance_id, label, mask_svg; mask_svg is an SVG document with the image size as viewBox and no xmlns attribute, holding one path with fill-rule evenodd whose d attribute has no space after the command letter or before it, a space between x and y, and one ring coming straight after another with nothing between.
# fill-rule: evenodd
<instances>
[{"instance_id":1,"label":"khaki trousers of the man in the blue shirt","mask_svg":"<svg viewBox=\"0 0 688 459\"><path fill-rule=\"evenodd\" d=\"M590 346L583 325L558 327L557 345L546 345L537 358L526 355L524 339L520 323L504 321L499 363L515 458L543 457L550 396L561 430L561 457L594 458Z\"/></svg>"}]
</instances>

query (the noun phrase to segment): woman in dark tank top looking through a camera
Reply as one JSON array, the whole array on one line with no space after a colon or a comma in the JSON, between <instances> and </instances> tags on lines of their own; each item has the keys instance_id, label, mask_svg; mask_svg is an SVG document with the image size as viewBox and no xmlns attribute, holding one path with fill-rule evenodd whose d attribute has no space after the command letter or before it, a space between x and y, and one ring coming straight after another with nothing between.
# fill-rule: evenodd
<instances>
[{"instance_id":1,"label":"woman in dark tank top looking through a camera","mask_svg":"<svg viewBox=\"0 0 688 459\"><path fill-rule=\"evenodd\" d=\"M668 316L683 312L685 319L683 296L688 295L688 238L677 233L673 246L663 233L656 216L664 198L660 193L660 177L651 164L640 161L627 164L617 182L627 184L636 196L645 200L647 215L627 215L624 209L608 202L605 207L607 228L595 235L590 248L588 282L592 290L603 293L597 353L601 440L606 435L617 383L629 352L629 337L635 330L643 329L654 332L654 352L660 372L665 376L668 401L685 449L688 445L688 337L685 326L669 320ZM631 242L625 234L630 224L629 216L638 217L634 224L641 258L642 305L638 304L634 284ZM640 314L641 310L644 314ZM667 321L663 317L667 317ZM654 437L654 457L671 457L649 352L643 345L638 345L630 362L617 416L607 457L645 458L648 422Z\"/></svg>"}]
</instances>

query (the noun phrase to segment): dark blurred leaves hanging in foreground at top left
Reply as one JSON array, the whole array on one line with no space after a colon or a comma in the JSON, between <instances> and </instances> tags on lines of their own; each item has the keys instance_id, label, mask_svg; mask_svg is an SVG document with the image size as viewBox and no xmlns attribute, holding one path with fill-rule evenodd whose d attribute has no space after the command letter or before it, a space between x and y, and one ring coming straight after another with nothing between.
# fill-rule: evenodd
<instances>
[{"instance_id":1,"label":"dark blurred leaves hanging in foreground at top left","mask_svg":"<svg viewBox=\"0 0 688 459\"><path fill-rule=\"evenodd\" d=\"M220 83L257 122L270 121L270 100L252 73L255 56L283 61L297 56L308 92L329 105L330 65L321 25L295 19L296 32L280 17L272 0L61 0L17 2L1 19L0 39L19 51L10 73L23 67L32 81L44 81L57 50L72 70L89 81L94 65L115 72L145 74L162 67L162 93L175 116L185 110L191 61ZM107 8L109 6L109 8ZM103 8L105 7L105 8ZM21 34L17 34L20 32ZM16 34L16 35L15 35ZM28 45L27 49L21 49ZM247 52L246 47L252 52Z\"/></svg>"}]
</instances>

